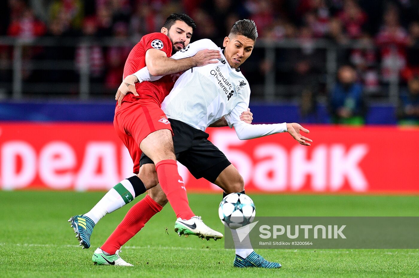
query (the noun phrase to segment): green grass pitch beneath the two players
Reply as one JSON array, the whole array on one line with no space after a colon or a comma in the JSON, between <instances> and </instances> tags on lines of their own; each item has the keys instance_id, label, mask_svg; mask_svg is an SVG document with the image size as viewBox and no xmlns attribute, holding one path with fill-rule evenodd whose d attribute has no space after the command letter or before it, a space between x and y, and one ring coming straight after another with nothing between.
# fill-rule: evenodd
<instances>
[{"instance_id":1,"label":"green grass pitch beneath the two players","mask_svg":"<svg viewBox=\"0 0 419 278\"><path fill-rule=\"evenodd\" d=\"M222 240L178 237L167 206L122 248L133 268L93 265L91 256L132 204L106 215L92 247L78 246L67 219L88 211L103 192L0 191L1 277L418 277L419 250L256 250L280 269L233 268ZM250 194L259 216L418 216L418 196ZM140 198L137 198L139 200ZM189 194L192 209L223 230L220 194ZM136 200L136 201L137 201ZM135 202L135 201L134 201ZM168 234L166 233L168 228Z\"/></svg>"}]
</instances>

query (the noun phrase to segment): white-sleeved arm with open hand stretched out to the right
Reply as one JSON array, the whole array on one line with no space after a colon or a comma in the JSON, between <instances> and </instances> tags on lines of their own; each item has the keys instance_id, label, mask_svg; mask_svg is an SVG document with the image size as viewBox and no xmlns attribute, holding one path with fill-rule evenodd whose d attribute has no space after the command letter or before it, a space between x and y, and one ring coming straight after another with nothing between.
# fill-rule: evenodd
<instances>
[{"instance_id":1,"label":"white-sleeved arm with open hand stretched out to the right","mask_svg":"<svg viewBox=\"0 0 419 278\"><path fill-rule=\"evenodd\" d=\"M278 123L278 124L269 124L269 125L249 125L240 120L240 111L243 111L243 108L248 106L248 101L239 102L228 115L225 115L225 120L227 120L230 128L234 127L235 133L240 140L248 140L253 138L259 138L266 135L288 132L290 135L298 141L301 145L309 146L313 140L300 134L300 131L309 133L309 131L303 128L301 125L296 122L293 123Z\"/></svg>"}]
</instances>

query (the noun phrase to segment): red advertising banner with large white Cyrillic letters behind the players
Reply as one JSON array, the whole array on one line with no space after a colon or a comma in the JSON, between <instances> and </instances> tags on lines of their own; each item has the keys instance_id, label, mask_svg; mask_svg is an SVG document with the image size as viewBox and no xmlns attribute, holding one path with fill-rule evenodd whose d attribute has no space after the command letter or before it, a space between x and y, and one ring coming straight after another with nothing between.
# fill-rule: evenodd
<instances>
[{"instance_id":1,"label":"red advertising banner with large white Cyrillic letters behind the players","mask_svg":"<svg viewBox=\"0 0 419 278\"><path fill-rule=\"evenodd\" d=\"M209 139L243 176L246 191L419 193L419 128L308 126L310 147L287 133ZM179 165L188 191L219 191ZM0 123L0 188L106 190L132 176L112 124Z\"/></svg>"}]
</instances>

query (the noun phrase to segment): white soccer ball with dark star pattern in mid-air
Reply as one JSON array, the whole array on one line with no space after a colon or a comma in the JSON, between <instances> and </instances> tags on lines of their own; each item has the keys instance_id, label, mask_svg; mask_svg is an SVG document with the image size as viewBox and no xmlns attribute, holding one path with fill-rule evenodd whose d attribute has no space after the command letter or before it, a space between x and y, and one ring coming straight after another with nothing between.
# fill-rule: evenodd
<instances>
[{"instance_id":1,"label":"white soccer ball with dark star pattern in mid-air","mask_svg":"<svg viewBox=\"0 0 419 278\"><path fill-rule=\"evenodd\" d=\"M225 196L218 208L218 216L222 224L237 229L250 224L255 218L255 204L243 193L231 193Z\"/></svg>"}]
</instances>

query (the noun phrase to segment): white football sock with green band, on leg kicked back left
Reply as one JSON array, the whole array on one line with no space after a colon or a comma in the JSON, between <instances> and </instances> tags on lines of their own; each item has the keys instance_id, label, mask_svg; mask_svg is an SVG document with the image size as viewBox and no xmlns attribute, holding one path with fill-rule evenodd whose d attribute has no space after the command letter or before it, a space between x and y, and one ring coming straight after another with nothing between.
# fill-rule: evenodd
<instances>
[{"instance_id":1,"label":"white football sock with green band, on leg kicked back left","mask_svg":"<svg viewBox=\"0 0 419 278\"><path fill-rule=\"evenodd\" d=\"M130 201L134 200L135 192L129 180L124 179L119 184L111 188L105 196L90 210L85 213L86 217L92 219L95 224L107 213L114 212L116 209L124 207Z\"/></svg>"}]
</instances>

